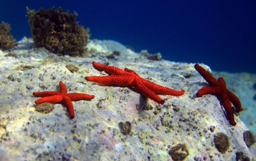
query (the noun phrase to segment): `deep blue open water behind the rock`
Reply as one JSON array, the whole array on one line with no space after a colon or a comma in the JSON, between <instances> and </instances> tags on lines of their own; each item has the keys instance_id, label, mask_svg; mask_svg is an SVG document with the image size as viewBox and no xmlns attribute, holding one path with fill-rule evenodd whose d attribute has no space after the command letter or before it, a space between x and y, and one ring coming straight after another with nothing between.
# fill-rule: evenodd
<instances>
[{"instance_id":1,"label":"deep blue open water behind the rock","mask_svg":"<svg viewBox=\"0 0 256 161\"><path fill-rule=\"evenodd\" d=\"M91 30L90 39L115 40L175 62L214 71L256 73L256 1L0 0L0 22L13 36L31 37L26 6L63 7Z\"/></svg>"}]
</instances>

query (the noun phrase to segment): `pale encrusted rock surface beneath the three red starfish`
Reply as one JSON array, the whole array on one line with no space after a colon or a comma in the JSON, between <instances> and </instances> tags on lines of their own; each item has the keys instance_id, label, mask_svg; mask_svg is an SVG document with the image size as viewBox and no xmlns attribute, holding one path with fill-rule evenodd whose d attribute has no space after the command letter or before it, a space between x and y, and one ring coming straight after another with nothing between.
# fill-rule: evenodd
<instances>
[{"instance_id":1,"label":"pale encrusted rock surface beneath the three red starfish","mask_svg":"<svg viewBox=\"0 0 256 161\"><path fill-rule=\"evenodd\" d=\"M230 126L215 96L196 98L195 93L207 83L195 71L194 64L148 60L108 40L93 40L88 50L88 57L60 56L35 49L33 41L24 38L10 51L16 57L4 56L9 52L0 51L2 161L171 161L169 150L178 144L186 145L189 155L185 160L189 161L234 161L236 152L255 160L255 144L246 146L243 132L248 128L239 117L235 117L237 125ZM108 59L106 56L114 50L121 55ZM108 75L96 70L92 61L121 69L128 67L156 84L184 89L185 94L160 95L166 101L158 105L132 88L87 82L85 76ZM74 64L79 71L71 73L67 64ZM24 66L34 67L25 70ZM55 104L49 114L35 110L34 101L39 98L32 93L59 91L59 81L69 93L95 95L92 100L72 102L74 119L70 119L64 104ZM131 123L129 135L123 135L119 129L119 123L126 121ZM217 132L229 138L230 146L224 154L214 146L213 136Z\"/></svg>"}]
</instances>

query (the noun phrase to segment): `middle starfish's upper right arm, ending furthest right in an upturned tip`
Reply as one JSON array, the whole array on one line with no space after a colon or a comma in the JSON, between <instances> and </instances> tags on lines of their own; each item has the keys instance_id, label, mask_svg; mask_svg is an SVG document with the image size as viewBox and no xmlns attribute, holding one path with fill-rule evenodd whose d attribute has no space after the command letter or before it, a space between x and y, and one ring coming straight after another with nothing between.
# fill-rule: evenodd
<instances>
[{"instance_id":1,"label":"middle starfish's upper right arm, ending furthest right in an upturned tip","mask_svg":"<svg viewBox=\"0 0 256 161\"><path fill-rule=\"evenodd\" d=\"M158 95L181 96L185 93L185 90L174 90L171 88L160 86L144 78L141 78L141 79L144 82L146 87L148 87L150 90L152 90L155 94L158 94Z\"/></svg>"}]
</instances>

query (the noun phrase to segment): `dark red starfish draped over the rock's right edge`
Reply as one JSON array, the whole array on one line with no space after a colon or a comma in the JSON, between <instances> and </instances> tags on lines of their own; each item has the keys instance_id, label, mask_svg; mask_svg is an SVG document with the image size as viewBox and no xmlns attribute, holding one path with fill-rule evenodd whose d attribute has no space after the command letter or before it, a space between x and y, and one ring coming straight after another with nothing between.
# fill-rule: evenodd
<instances>
[{"instance_id":1,"label":"dark red starfish draped over the rock's right edge","mask_svg":"<svg viewBox=\"0 0 256 161\"><path fill-rule=\"evenodd\" d=\"M201 88L198 93L196 93L197 97L202 97L202 95L215 95L222 106L224 107L223 111L227 117L227 120L229 120L229 123L232 126L236 125L235 119L234 119L234 113L231 108L231 103L235 106L236 111L240 112L243 110L240 100L234 93L227 90L226 82L225 80L220 77L218 78L218 81L210 75L202 66L199 64L195 64L195 69L204 77L204 79L209 83L209 87L203 87Z\"/></svg>"}]
</instances>

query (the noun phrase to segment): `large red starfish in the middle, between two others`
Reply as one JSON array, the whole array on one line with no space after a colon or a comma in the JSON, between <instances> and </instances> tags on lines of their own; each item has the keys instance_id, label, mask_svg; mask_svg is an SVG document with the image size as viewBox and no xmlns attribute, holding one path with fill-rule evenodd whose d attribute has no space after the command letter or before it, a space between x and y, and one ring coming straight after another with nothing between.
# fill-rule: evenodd
<instances>
[{"instance_id":1,"label":"large red starfish in the middle, between two others","mask_svg":"<svg viewBox=\"0 0 256 161\"><path fill-rule=\"evenodd\" d=\"M98 64L96 62L92 62L93 66L101 71L106 71L110 73L109 76L91 76L85 77L87 81L97 82L103 85L123 85L123 86L132 86L137 90L141 95L152 99L153 101L157 102L158 104L164 104L164 99L161 99L157 96L157 94L161 95L173 95L173 96L181 96L184 94L184 90L173 90L170 88L166 88L164 86L159 86L153 82L149 82L146 79L143 79L137 75L134 71L124 68L121 70L114 66L107 66Z\"/></svg>"}]
</instances>

